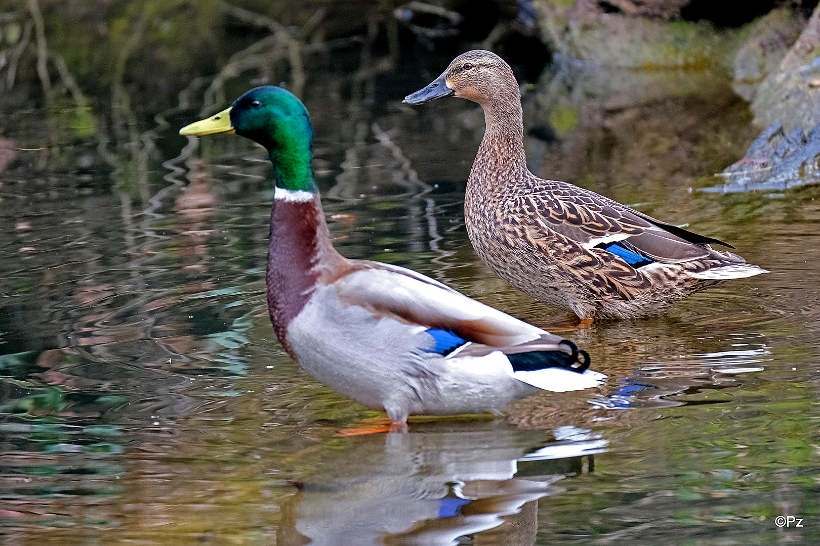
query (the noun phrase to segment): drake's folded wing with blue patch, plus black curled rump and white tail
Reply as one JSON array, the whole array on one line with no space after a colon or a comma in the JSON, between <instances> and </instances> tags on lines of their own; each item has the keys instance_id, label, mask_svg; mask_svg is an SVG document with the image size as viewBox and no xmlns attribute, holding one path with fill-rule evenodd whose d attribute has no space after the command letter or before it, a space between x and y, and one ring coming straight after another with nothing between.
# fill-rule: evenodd
<instances>
[{"instance_id":1,"label":"drake's folded wing with blue patch, plus black curled rump and white tail","mask_svg":"<svg viewBox=\"0 0 820 546\"><path fill-rule=\"evenodd\" d=\"M428 352L445 359L489 357L515 379L555 392L599 386L606 376L572 341L513 318L420 273L378 262L353 261L333 284L342 305L419 326L432 337ZM489 364L485 364L489 365ZM476 370L476 373L481 373Z\"/></svg>"}]
</instances>

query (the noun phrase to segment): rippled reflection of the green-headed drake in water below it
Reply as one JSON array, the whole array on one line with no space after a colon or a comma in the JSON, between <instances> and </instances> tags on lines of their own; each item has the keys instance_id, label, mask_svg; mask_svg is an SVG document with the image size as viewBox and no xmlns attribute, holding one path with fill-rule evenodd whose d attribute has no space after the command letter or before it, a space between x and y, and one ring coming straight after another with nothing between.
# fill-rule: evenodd
<instances>
[{"instance_id":1,"label":"rippled reflection of the green-headed drake in water below it","mask_svg":"<svg viewBox=\"0 0 820 546\"><path fill-rule=\"evenodd\" d=\"M298 484L277 544L535 544L537 499L593 469L608 440L575 426L523 431L506 422L412 426L363 435ZM585 464L586 463L586 464ZM491 530L491 531L489 531Z\"/></svg>"}]
</instances>

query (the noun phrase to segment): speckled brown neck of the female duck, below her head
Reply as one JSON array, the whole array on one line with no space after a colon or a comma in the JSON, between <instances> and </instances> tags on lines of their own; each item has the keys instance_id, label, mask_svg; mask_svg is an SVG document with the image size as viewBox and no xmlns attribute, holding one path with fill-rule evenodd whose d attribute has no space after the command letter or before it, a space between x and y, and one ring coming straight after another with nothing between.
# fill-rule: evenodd
<instances>
[{"instance_id":1,"label":"speckled brown neck of the female duck, below her head","mask_svg":"<svg viewBox=\"0 0 820 546\"><path fill-rule=\"evenodd\" d=\"M481 107L487 127L467 182L468 199L503 192L528 172L521 93L517 86L500 89Z\"/></svg>"}]
</instances>

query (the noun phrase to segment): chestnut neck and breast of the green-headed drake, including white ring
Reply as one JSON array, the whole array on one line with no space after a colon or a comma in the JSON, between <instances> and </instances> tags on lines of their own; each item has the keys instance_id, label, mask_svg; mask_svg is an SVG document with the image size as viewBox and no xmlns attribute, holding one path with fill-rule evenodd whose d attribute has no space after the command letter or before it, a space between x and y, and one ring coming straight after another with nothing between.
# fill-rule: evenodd
<instances>
[{"instance_id":1,"label":"chestnut neck and breast of the green-headed drake, including white ring","mask_svg":"<svg viewBox=\"0 0 820 546\"><path fill-rule=\"evenodd\" d=\"M288 324L317 286L335 278L347 263L330 243L325 213L310 173L310 156L301 159L307 169L286 165L271 153L276 194L268 246L267 306L276 336L291 356L295 355L287 340ZM297 178L298 174L302 178Z\"/></svg>"}]
</instances>

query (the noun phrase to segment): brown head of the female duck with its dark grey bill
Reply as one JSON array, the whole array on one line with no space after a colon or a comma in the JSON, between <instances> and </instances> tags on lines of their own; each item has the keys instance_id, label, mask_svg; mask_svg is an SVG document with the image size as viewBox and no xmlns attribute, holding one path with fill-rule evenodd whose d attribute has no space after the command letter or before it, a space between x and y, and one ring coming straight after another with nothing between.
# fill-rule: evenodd
<instances>
[{"instance_id":1,"label":"brown head of the female duck with its dark grey bill","mask_svg":"<svg viewBox=\"0 0 820 546\"><path fill-rule=\"evenodd\" d=\"M483 105L512 89L518 93L509 65L494 52L476 49L457 56L430 85L404 97L403 102L422 104L454 95Z\"/></svg>"}]
</instances>

